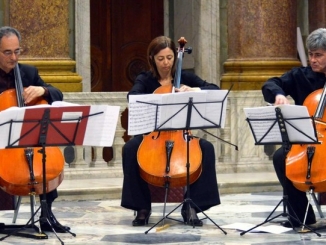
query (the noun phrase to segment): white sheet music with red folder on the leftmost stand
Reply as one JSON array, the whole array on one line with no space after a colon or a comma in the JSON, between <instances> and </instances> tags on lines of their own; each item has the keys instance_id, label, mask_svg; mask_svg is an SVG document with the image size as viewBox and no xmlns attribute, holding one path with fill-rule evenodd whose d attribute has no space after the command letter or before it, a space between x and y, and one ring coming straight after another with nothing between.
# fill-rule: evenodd
<instances>
[{"instance_id":1,"label":"white sheet music with red folder on the leftmost stand","mask_svg":"<svg viewBox=\"0 0 326 245\"><path fill-rule=\"evenodd\" d=\"M66 132L67 135L69 134L69 140L73 139L74 130L78 130L76 131L77 137L73 142L74 144L112 146L119 118L119 106L76 105L58 102L52 105L10 107L1 111L0 148L6 148L9 145L21 146L21 142L24 142L23 144L28 142L37 145L39 128L36 128L34 132L30 132L27 136L22 136L28 132L29 128L32 128L33 124L37 125L40 122L45 108L50 108L50 122L59 128L59 131ZM80 120L81 117L83 119ZM63 137L55 131L53 125L49 124L46 144L60 145L60 142L63 143Z\"/></svg>"}]
</instances>

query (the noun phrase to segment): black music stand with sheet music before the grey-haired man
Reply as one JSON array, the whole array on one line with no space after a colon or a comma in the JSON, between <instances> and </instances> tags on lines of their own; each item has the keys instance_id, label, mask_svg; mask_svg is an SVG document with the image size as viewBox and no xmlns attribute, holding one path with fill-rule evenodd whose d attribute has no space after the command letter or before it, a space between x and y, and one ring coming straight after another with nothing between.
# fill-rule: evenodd
<instances>
[{"instance_id":1,"label":"black music stand with sheet music before the grey-haired man","mask_svg":"<svg viewBox=\"0 0 326 245\"><path fill-rule=\"evenodd\" d=\"M283 154L284 159L286 158L286 155L291 149L291 145L293 144L320 144L318 142L314 118L309 117L308 112L307 115L301 116L290 116L291 114L288 114L291 108L291 106L283 106L283 107L266 107L269 108L268 110L274 110L275 114L274 116L268 115L266 113L264 116L257 116L258 114L251 114L248 112L247 122L249 123L251 132L255 139L255 145L277 145L282 144L283 147ZM289 109L289 110L288 110ZM283 115L282 113L285 112ZM259 110L257 110L259 112ZM250 118L251 117L251 118ZM302 123L302 124L301 124ZM303 124L305 123L305 124ZM293 135L289 135L289 132L296 133L297 135L293 137ZM285 167L286 171L286 167ZM286 178L286 173L284 174L284 179ZM286 181L284 181L286 183ZM276 211L276 209L283 203L283 212L271 217L273 213ZM295 215L293 217L287 212L287 209L291 209ZM319 233L312 230L309 226L303 224L297 215L295 214L292 206L288 202L288 196L285 191L285 188L283 188L283 197L279 201L279 203L276 205L276 207L273 209L273 211L267 216L264 222L252 227L251 229L247 231L243 231L240 233L240 235L244 235L247 232L265 224L268 223L278 217L287 217L292 218L293 220L297 221L300 225L306 227L308 230L316 233L318 236L321 236ZM291 223L292 224L292 223ZM294 227L293 227L294 229Z\"/></svg>"}]
</instances>

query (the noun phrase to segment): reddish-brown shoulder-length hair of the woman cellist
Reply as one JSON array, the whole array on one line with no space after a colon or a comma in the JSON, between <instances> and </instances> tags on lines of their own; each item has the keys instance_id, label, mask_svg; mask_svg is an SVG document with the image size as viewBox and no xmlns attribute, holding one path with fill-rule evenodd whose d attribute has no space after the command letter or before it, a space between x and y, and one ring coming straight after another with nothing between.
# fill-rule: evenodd
<instances>
[{"instance_id":1,"label":"reddish-brown shoulder-length hair of the woman cellist","mask_svg":"<svg viewBox=\"0 0 326 245\"><path fill-rule=\"evenodd\" d=\"M166 37L166 36L159 36L154 38L151 43L148 45L147 48L147 60L148 60L148 64L149 64L149 68L150 71L153 73L153 76L160 79L160 74L158 73L156 64L155 64L155 60L154 60L154 56L159 53L162 49L165 48L170 48L173 51L174 54L174 62L173 62L173 66L172 66L172 71L171 74L174 77L174 73L175 73L175 63L177 61L177 48L174 44L174 42Z\"/></svg>"}]
</instances>

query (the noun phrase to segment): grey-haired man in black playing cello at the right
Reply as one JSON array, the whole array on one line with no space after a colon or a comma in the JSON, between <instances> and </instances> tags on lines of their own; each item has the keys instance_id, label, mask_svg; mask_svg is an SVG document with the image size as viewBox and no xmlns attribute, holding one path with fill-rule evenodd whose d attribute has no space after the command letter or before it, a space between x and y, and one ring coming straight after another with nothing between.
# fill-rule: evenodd
<instances>
[{"instance_id":1,"label":"grey-haired man in black playing cello at the right","mask_svg":"<svg viewBox=\"0 0 326 245\"><path fill-rule=\"evenodd\" d=\"M309 56L309 66L293 68L281 77L273 77L266 81L262 87L264 99L275 105L289 104L286 96L291 96L296 105L302 105L306 97L315 90L324 87L326 82L326 29L320 28L313 31L306 40ZM288 201L294 212L288 209L293 217L298 216L304 221L308 199L305 192L296 189L285 175L285 156L283 148L278 149L273 156L273 164L277 177L288 195ZM289 219L282 223L285 227L299 227L299 222ZM306 223L316 223L315 213L309 204Z\"/></svg>"}]
</instances>

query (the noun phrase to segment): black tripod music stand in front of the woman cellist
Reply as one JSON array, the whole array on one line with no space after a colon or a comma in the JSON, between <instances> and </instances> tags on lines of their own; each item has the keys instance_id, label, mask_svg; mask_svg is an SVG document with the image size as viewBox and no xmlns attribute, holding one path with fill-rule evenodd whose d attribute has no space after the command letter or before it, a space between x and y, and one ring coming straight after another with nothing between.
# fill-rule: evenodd
<instances>
[{"instance_id":1,"label":"black tripod music stand in front of the woman cellist","mask_svg":"<svg viewBox=\"0 0 326 245\"><path fill-rule=\"evenodd\" d=\"M150 229L148 229L145 232L145 234L147 234L151 229L153 229L155 226L157 226L160 222L163 221L163 224L164 224L164 220L167 219L167 218L171 219L171 220L181 222L181 223L184 223L183 221L180 221L180 220L173 219L173 218L169 217L170 214L172 214L176 209L178 209L183 204L185 204L186 207L187 207L187 213L191 213L190 208L191 208L191 205L193 205L193 207L196 207L198 210L200 210L200 212L202 214L204 214L204 216L207 219L209 219L224 234L227 234L209 216L207 216L205 214L205 212L202 211L196 205L196 203L194 203L194 201L190 198L190 189L191 188L190 188L190 182L189 182L189 175L190 175L190 173L189 173L189 168L190 168L189 141L190 141L192 136L190 136L188 134L188 131L192 130L192 129L220 128L221 125L224 124L224 116L222 116L222 115L225 115L226 98L227 98L227 95L228 95L229 91L221 91L221 90L218 90L218 91L223 93L223 95L222 95L223 98L221 98L220 100L216 100L216 96L212 96L212 97L214 97L214 99L208 99L206 101L201 101L201 102L194 102L194 99L191 96L196 95L196 93L198 93L198 92L196 92L195 94L189 95L187 97L187 102L181 102L181 103L161 103L161 104L159 104L159 103L152 103L152 102L136 100L136 102L138 102L138 103L154 106L156 108L155 109L155 123L154 123L155 126L154 126L154 130L149 130L149 131L183 130L183 131L186 132L185 133L185 139L186 139L186 142L187 142L187 151L186 151L186 154L187 154L187 163L186 163L186 168L187 168L187 173L186 173L187 196L186 196L186 198L184 199L183 202L181 202L177 207L175 207L167 215L165 215L165 206L164 206L163 218L160 219L156 224L154 224ZM209 94L210 91L208 91L207 93ZM211 93L214 93L214 92L211 91ZM187 96L187 93L182 93L182 94L184 96ZM171 96L173 96L173 94L171 94ZM202 95L197 94L197 96L200 97ZM130 100L131 100L131 98L129 98L129 101ZM183 98L183 100L184 100L184 98ZM214 104L215 104L215 106L214 106ZM216 104L218 106L216 106ZM167 107L165 112L168 114L168 116L165 116L165 117L161 116L161 114L164 114L164 111L162 109L164 107ZM218 107L218 110L216 110L216 107ZM201 113L201 110L203 110L205 108L206 108L206 110L204 110L205 113ZM213 109L213 111L212 111L212 109ZM129 106L129 113L132 113L132 110L133 110L133 107ZM142 109L142 111L144 111L144 110L146 110L146 109ZM185 112L186 116L184 114L182 115L182 112ZM214 115L214 117L212 117L212 113L216 113L216 115ZM195 118L194 115L196 115L195 122L192 121ZM146 121L146 120L144 120L144 121ZM176 123L173 124L173 121L175 121ZM167 125L169 125L169 126L167 126ZM164 187L166 188L166 193L167 193L168 188L169 188L168 179L166 180L166 184L164 185ZM167 194L165 195L165 204L166 204L166 199L167 199ZM189 219L187 220L186 223L190 224L190 225L193 225L193 228L195 227L192 215L189 217Z\"/></svg>"}]
</instances>

